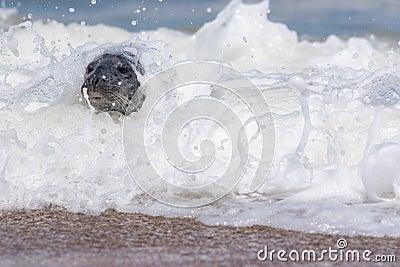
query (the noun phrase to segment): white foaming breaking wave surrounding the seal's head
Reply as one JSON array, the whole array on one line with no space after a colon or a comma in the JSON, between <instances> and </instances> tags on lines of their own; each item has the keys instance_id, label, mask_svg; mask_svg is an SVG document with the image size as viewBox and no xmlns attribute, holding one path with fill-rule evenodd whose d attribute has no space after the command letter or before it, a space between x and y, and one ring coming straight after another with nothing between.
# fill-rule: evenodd
<instances>
[{"instance_id":1,"label":"white foaming breaking wave surrounding the seal's head","mask_svg":"<svg viewBox=\"0 0 400 267\"><path fill-rule=\"evenodd\" d=\"M52 204L98 214L115 208L211 225L400 236L400 44L374 34L299 38L269 19L272 7L268 1L233 0L194 33L81 21L3 24L8 29L0 42L0 209ZM144 66L139 80L147 98L137 114L118 119L93 113L82 97L85 67L105 51L134 53ZM196 66L202 79L240 90L221 96L209 86L177 88L182 73L198 79ZM232 105L239 119L227 120L210 99ZM265 110L260 125L273 129L267 142L254 133L247 145L235 140L240 136L234 123L246 134L259 133L253 113L242 111L248 99L252 112ZM191 100L200 102L189 109ZM148 116L149 110L155 115ZM184 116L168 120L182 110ZM186 117L204 118L207 112L207 121ZM140 149L142 139L146 150ZM162 147L179 151L186 163L213 159L208 174L190 176L188 187L214 185L219 177L223 182L195 193L169 191L156 176L181 186L186 174L171 164L177 154L165 157ZM270 157L263 156L263 147ZM243 153L250 165L236 182L229 166L241 167ZM252 188L255 170L266 163L260 176L266 179ZM180 206L220 199L183 208L143 189ZM166 192L167 201L157 190Z\"/></svg>"}]
</instances>

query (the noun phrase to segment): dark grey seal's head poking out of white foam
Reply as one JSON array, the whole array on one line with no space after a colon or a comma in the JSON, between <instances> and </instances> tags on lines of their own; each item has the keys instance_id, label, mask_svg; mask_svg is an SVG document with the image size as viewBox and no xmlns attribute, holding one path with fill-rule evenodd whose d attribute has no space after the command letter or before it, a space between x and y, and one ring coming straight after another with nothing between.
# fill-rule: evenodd
<instances>
[{"instance_id":1,"label":"dark grey seal's head poking out of white foam","mask_svg":"<svg viewBox=\"0 0 400 267\"><path fill-rule=\"evenodd\" d=\"M145 95L134 67L142 75L144 69L133 59L130 53L105 53L88 64L81 92L92 110L129 115L140 109Z\"/></svg>"}]
</instances>

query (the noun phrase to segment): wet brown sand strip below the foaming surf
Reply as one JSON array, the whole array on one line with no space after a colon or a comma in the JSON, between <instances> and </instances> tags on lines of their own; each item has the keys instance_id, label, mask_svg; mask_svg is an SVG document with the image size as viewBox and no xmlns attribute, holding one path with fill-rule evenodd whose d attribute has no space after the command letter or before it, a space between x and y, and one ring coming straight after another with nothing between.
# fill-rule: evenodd
<instances>
[{"instance_id":1,"label":"wet brown sand strip below the foaming surf","mask_svg":"<svg viewBox=\"0 0 400 267\"><path fill-rule=\"evenodd\" d=\"M0 266L344 266L348 263L328 257L301 263L257 260L265 245L275 250L322 251L336 249L339 238L343 237L266 226L207 226L192 219L113 210L99 216L61 208L0 211ZM396 255L400 261L399 238L344 238L347 249ZM350 265L397 266L393 262Z\"/></svg>"}]
</instances>

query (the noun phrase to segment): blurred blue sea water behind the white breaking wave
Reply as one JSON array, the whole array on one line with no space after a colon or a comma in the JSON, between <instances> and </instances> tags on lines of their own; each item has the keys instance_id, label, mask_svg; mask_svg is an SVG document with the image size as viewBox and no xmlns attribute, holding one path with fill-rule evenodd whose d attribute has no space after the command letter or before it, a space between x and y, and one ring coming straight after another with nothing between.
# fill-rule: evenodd
<instances>
[{"instance_id":1,"label":"blurred blue sea water behind the white breaking wave","mask_svg":"<svg viewBox=\"0 0 400 267\"><path fill-rule=\"evenodd\" d=\"M244 0L249 1L249 0ZM256 1L256 0L253 0ZM195 31L213 20L230 0L32 0L3 1L21 17L56 20L64 24L106 24L129 31L160 27ZM324 38L331 34L400 35L400 0L270 0L268 18L282 22L299 35Z\"/></svg>"}]
</instances>

